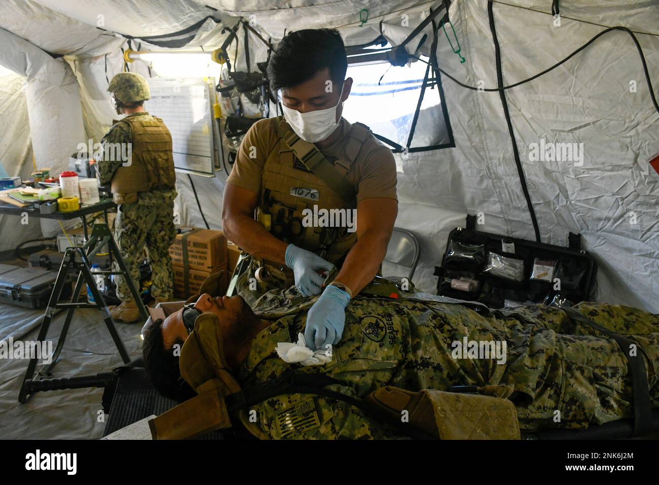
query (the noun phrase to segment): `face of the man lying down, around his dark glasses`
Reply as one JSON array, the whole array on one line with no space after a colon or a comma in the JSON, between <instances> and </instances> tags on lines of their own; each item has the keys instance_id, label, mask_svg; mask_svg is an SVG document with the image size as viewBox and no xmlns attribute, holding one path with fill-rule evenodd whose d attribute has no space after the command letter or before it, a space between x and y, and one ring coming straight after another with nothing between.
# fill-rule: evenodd
<instances>
[{"instance_id":1,"label":"face of the man lying down, around his dark glasses","mask_svg":"<svg viewBox=\"0 0 659 485\"><path fill-rule=\"evenodd\" d=\"M252 309L241 296L218 296L213 298L204 293L197 299L194 307L202 313L215 313L220 325L223 327L231 327L237 321L243 319L245 315L252 314ZM183 308L176 313L172 313L163 321L162 332L165 347L167 348L177 339L185 342L188 338L188 331L183 325Z\"/></svg>"}]
</instances>

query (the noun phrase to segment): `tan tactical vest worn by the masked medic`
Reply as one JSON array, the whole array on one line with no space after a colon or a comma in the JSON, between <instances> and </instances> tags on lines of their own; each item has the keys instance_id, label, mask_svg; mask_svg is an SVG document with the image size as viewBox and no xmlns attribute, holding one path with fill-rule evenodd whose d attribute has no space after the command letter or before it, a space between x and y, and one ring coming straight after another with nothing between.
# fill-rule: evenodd
<instances>
[{"instance_id":1,"label":"tan tactical vest worn by the masked medic","mask_svg":"<svg viewBox=\"0 0 659 485\"><path fill-rule=\"evenodd\" d=\"M291 129L283 117L277 117L276 120L279 129ZM349 139L343 154L333 162L334 168L344 177L353 168L362 146L372 135L366 125L354 123L346 136ZM308 212L303 212L305 209ZM317 227L303 224L312 222L314 214L339 214L329 212L331 209L352 211L355 207L341 199L326 182L308 170L280 137L263 168L258 221L276 238L313 251L337 265L357 242L357 233L349 232L345 226ZM353 224L356 224L355 212L343 214L352 217ZM341 220L345 221L343 214ZM308 216L306 219L305 215Z\"/></svg>"}]
</instances>

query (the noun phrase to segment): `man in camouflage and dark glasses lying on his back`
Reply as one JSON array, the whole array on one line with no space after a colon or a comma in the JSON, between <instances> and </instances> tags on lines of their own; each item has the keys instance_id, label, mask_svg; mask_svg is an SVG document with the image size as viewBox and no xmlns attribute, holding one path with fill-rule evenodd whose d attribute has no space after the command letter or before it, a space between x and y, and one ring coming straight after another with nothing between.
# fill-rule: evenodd
<instances>
[{"instance_id":1,"label":"man in camouflage and dark glasses lying on his back","mask_svg":"<svg viewBox=\"0 0 659 485\"><path fill-rule=\"evenodd\" d=\"M416 391L435 390L428 395L441 397L448 393L440 391L470 385L489 395L488 399L505 399L523 431L583 429L590 423L633 416L632 380L624 350L643 359L650 404L652 408L659 406L659 315L608 304L575 307L591 321L633 342L631 349L621 350L616 340L576 323L554 307L477 312L467 304L357 296L346 309L345 330L339 344L331 349L330 362L318 366L287 364L275 348L280 342L297 341L299 333L304 333L313 301L293 290L273 291L252 309L240 296L202 294L194 306L189 304L189 308L147 329L147 372L163 395L181 401L195 395L181 377L186 352L183 345L194 331L196 317L206 315L207 323L212 320L219 327L220 337L212 345L243 389L258 389L292 370L331 377L335 381L325 389L359 400L395 386L400 389L397 397L404 397L399 400L402 407L393 406L394 415L401 416L407 411L406 404L418 403L413 394ZM191 375L192 371L184 371L186 377ZM434 408L440 401L432 401ZM469 403L460 401L467 406L486 406L490 401ZM505 412L505 406L503 409ZM401 437L399 428L353 404L310 393L266 399L250 406L248 415L241 413L240 420L256 436L274 439ZM438 427L441 436L439 422ZM473 436L470 433L465 437Z\"/></svg>"}]
</instances>

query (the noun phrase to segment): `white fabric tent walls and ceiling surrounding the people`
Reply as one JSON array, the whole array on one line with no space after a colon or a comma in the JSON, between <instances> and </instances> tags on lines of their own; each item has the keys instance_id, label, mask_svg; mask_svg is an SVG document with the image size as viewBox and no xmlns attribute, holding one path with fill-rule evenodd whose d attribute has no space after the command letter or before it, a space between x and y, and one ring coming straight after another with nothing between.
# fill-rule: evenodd
<instances>
[{"instance_id":1,"label":"white fabric tent walls and ceiling surrounding the people","mask_svg":"<svg viewBox=\"0 0 659 485\"><path fill-rule=\"evenodd\" d=\"M650 94L651 88L659 90L659 2L569 0L559 7L557 22L549 0L450 2L455 36L440 29L438 65L462 83L485 89L471 90L442 75L442 103L454 146L396 154L396 225L420 241L414 280L434 292L433 271L447 235L464 226L467 214L480 215L481 230L534 240L531 207L542 242L566 245L569 232L581 234L583 248L599 267L596 300L656 312L659 174L648 160L659 152L659 113ZM243 37L248 35L250 69L256 70L268 49L254 32L276 46L287 31L330 27L339 29L347 46L378 36L397 46L436 8L444 9L445 2L4 0L2 166L10 176L24 178L35 167L59 173L78 143L100 141L113 119L108 80L126 69L126 49L212 51L244 20L253 30L237 31L229 57L233 69L246 70ZM612 30L556 69L505 90L503 100L499 91L487 90L544 71L613 26L633 32L654 86L648 86L633 38ZM431 29L407 44L409 53L430 53ZM430 37L420 43L424 35ZM457 43L460 55L454 52ZM503 84L498 84L498 56ZM156 75L148 61L127 66L146 77ZM422 139L437 122L420 117L416 136ZM540 139L583 144L583 159L532 160L530 147ZM222 171L214 178L194 177L211 228L221 229L225 180ZM203 226L189 179L179 177L177 188L181 222ZM0 216L0 250L58 230L45 223L19 226L15 218Z\"/></svg>"}]
</instances>

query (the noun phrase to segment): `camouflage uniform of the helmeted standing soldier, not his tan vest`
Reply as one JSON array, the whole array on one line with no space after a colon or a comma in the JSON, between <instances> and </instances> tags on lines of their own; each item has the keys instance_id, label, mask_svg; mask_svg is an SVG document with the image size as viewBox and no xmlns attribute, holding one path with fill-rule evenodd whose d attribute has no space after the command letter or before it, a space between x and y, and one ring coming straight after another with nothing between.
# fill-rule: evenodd
<instances>
[{"instance_id":1,"label":"camouflage uniform of the helmeted standing soldier, not his tan vest","mask_svg":"<svg viewBox=\"0 0 659 485\"><path fill-rule=\"evenodd\" d=\"M132 113L129 116L149 116L147 112ZM103 143L132 143L129 123L118 121L101 140ZM100 185L108 185L121 160L100 160L96 163L96 176ZM130 276L139 291L140 257L146 243L152 268L152 295L161 300L173 298L173 274L169 246L176 238L174 227L174 199L176 189L151 190L138 193L138 201L120 204L115 219L115 241ZM113 263L113 271L119 265ZM121 300L131 300L130 290L123 276L115 275L117 296Z\"/></svg>"}]
</instances>

